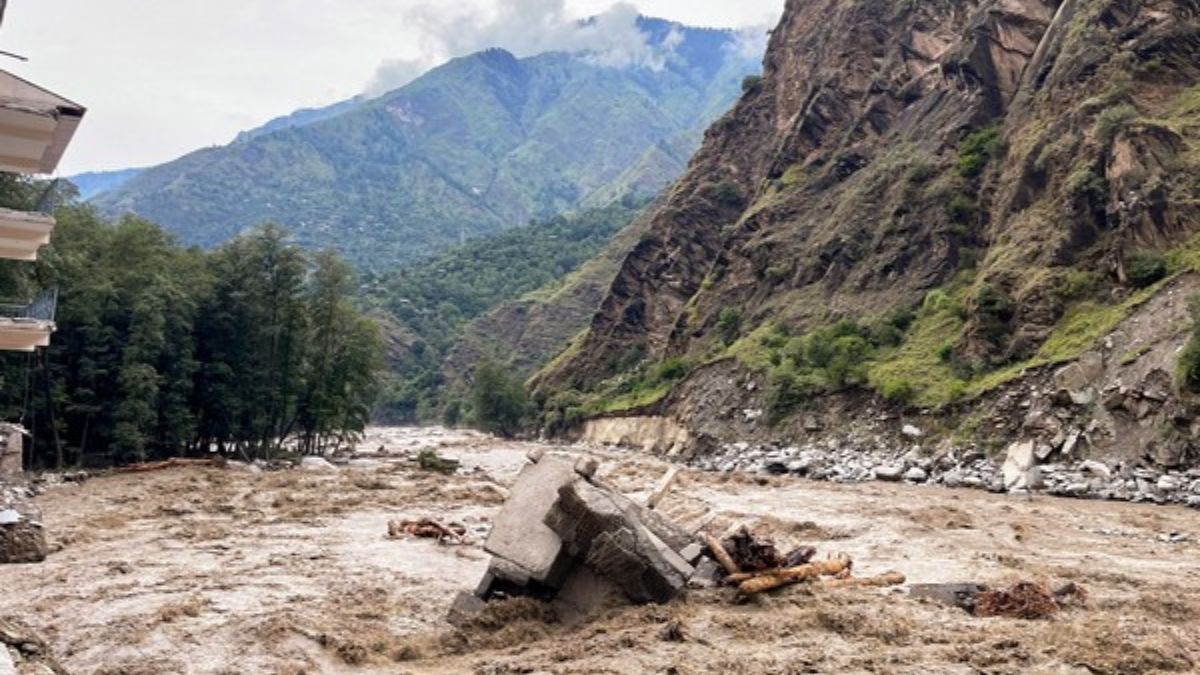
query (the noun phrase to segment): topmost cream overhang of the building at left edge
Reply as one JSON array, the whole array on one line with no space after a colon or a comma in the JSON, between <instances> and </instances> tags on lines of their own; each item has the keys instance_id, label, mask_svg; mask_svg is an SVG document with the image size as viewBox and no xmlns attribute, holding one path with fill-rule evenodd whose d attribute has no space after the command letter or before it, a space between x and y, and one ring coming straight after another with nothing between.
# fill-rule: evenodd
<instances>
[{"instance_id":1,"label":"topmost cream overhang of the building at left edge","mask_svg":"<svg viewBox=\"0 0 1200 675\"><path fill-rule=\"evenodd\" d=\"M54 173L85 108L0 71L0 171Z\"/></svg>"}]
</instances>

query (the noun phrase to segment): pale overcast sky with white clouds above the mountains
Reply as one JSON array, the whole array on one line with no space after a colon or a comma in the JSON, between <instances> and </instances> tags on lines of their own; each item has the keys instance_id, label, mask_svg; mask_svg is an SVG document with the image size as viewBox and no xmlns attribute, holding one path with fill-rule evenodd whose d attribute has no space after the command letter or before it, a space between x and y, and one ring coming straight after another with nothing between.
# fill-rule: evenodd
<instances>
[{"instance_id":1,"label":"pale overcast sky with white clouds above the mountains","mask_svg":"<svg viewBox=\"0 0 1200 675\"><path fill-rule=\"evenodd\" d=\"M774 25L784 0L8 0L6 70L88 107L61 174L145 166L486 47L653 62L632 17ZM600 16L599 30L576 20Z\"/></svg>"}]
</instances>

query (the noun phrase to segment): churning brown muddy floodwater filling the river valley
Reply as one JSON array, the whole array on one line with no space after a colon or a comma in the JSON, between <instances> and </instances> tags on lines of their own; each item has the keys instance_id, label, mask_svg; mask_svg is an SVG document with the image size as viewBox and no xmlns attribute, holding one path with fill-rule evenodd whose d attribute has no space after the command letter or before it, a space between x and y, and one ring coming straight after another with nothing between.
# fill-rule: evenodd
<instances>
[{"instance_id":1,"label":"churning brown muddy floodwater filling the river valley","mask_svg":"<svg viewBox=\"0 0 1200 675\"><path fill-rule=\"evenodd\" d=\"M1087 605L978 619L900 589L793 586L739 601L690 591L564 623L532 601L476 625L445 610L487 567L481 545L532 443L377 429L350 465L254 473L182 467L95 477L38 503L54 552L0 568L0 614L73 674L1200 673L1200 513L894 484L684 471L660 510L720 533L848 554L911 584L1073 581ZM412 458L436 448L455 476ZM647 494L666 464L574 448ZM394 519L468 530L463 545L389 539Z\"/></svg>"}]
</instances>

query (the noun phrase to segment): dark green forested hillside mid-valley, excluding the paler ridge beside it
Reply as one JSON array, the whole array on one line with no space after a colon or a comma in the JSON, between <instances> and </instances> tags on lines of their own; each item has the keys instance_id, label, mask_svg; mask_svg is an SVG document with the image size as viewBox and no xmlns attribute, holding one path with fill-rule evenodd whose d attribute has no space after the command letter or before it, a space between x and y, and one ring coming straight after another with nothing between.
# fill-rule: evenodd
<instances>
[{"instance_id":1,"label":"dark green forested hillside mid-valley, excluding the paler ridge beside it","mask_svg":"<svg viewBox=\"0 0 1200 675\"><path fill-rule=\"evenodd\" d=\"M486 356L505 365L520 362L520 347L500 350L511 336L496 333L473 334L470 358L460 356L448 364L446 357L464 347L461 340L474 322L502 304L533 291L551 293L569 285L564 279L604 250L641 207L641 202L626 199L604 209L536 221L368 281L368 303L384 317L391 340L388 354L392 382L382 417L433 419L448 398L462 395L461 381L476 360ZM520 327L510 321L506 328ZM551 345L557 342L551 340Z\"/></svg>"}]
</instances>

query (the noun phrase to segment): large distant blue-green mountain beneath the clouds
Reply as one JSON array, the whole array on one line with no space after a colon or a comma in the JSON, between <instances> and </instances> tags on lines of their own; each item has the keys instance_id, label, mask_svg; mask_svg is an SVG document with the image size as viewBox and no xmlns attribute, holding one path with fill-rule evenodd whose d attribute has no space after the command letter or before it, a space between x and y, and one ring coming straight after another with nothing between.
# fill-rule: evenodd
<instances>
[{"instance_id":1,"label":"large distant blue-green mountain beneath the clouds","mask_svg":"<svg viewBox=\"0 0 1200 675\"><path fill-rule=\"evenodd\" d=\"M760 70L732 31L642 19L662 66L586 55L452 60L379 98L244 135L101 195L184 241L212 246L263 221L365 271L532 219L649 196L679 175L703 130Z\"/></svg>"}]
</instances>

